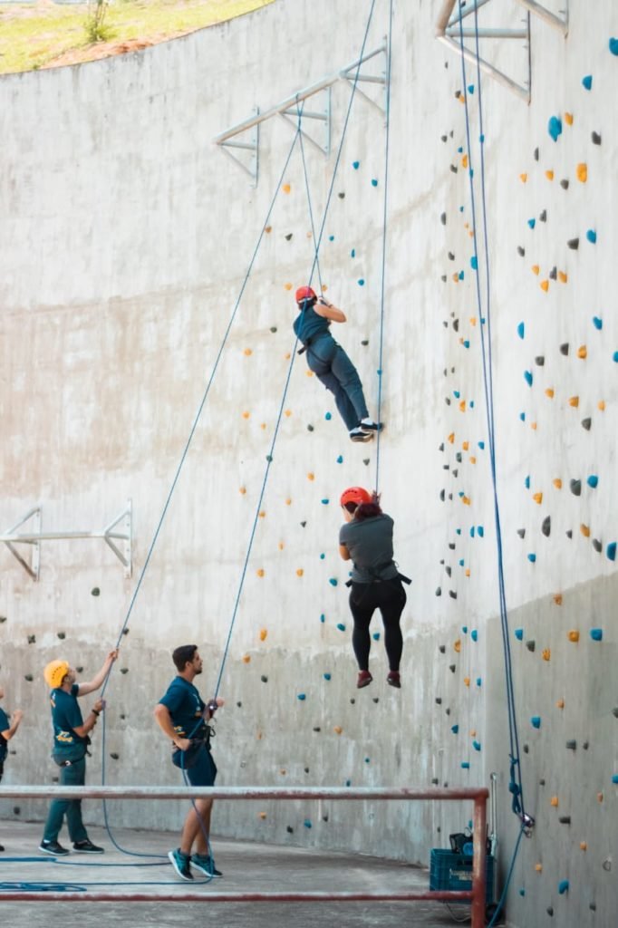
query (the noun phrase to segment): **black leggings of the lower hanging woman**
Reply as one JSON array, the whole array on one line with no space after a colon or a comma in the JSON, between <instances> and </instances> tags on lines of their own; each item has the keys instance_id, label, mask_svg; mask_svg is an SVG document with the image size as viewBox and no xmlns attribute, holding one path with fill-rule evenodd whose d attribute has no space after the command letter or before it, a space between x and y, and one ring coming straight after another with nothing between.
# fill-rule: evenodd
<instances>
[{"instance_id":1,"label":"black leggings of the lower hanging woman","mask_svg":"<svg viewBox=\"0 0 618 928\"><path fill-rule=\"evenodd\" d=\"M371 638L369 625L376 609L382 613L384 647L389 659L389 670L399 670L404 638L399 627L401 613L406 605L406 590L399 580L382 580L380 583L353 583L350 592L350 611L354 616L352 647L359 670L369 669Z\"/></svg>"}]
</instances>

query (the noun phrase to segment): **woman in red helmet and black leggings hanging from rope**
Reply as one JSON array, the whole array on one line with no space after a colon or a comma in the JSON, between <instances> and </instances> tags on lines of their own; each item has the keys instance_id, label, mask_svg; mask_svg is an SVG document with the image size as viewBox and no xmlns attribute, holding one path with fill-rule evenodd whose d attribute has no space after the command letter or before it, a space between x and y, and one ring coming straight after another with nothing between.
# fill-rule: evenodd
<instances>
[{"instance_id":1,"label":"woman in red helmet and black leggings hanging from rope","mask_svg":"<svg viewBox=\"0 0 618 928\"><path fill-rule=\"evenodd\" d=\"M373 677L369 673L371 638L369 625L376 609L384 623L384 647L389 661L387 683L401 688L399 662L404 639L399 627L406 605L403 583L408 577L400 574L393 561L393 519L380 509L380 496L370 494L362 486L351 486L341 494L341 509L346 524L339 533L339 553L344 561L353 561L350 591L350 611L354 617L352 647L358 662L359 690L367 687Z\"/></svg>"}]
</instances>

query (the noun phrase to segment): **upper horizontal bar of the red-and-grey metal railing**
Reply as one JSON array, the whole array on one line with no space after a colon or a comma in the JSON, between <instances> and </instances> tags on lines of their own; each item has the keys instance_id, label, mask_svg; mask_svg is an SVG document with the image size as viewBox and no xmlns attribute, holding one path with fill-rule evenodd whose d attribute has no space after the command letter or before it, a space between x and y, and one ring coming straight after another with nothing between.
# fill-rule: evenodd
<instances>
[{"instance_id":1,"label":"upper horizontal bar of the red-and-grey metal railing","mask_svg":"<svg viewBox=\"0 0 618 928\"><path fill-rule=\"evenodd\" d=\"M0 786L0 799L342 799L367 801L372 799L442 801L487 799L486 787L477 789L416 790L375 789L373 787L277 787L258 786Z\"/></svg>"}]
</instances>

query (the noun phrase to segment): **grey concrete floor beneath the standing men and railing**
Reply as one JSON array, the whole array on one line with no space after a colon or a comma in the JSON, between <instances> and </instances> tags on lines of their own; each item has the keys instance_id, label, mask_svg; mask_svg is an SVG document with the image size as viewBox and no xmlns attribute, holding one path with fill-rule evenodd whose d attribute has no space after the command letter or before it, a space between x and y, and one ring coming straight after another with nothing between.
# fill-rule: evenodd
<instances>
[{"instance_id":1,"label":"grey concrete floor beneath the standing men and railing","mask_svg":"<svg viewBox=\"0 0 618 928\"><path fill-rule=\"evenodd\" d=\"M250 844L213 839L213 852L224 879L195 884L178 879L167 857L129 857L113 847L101 829L89 829L91 840L106 848L105 856L71 854L54 859L39 854L41 825L24 822L0 823L4 853L0 854L0 901L2 887L14 883L71 884L86 893L148 893L151 902L1 902L2 923L10 928L43 928L51 920L63 928L88 928L105 922L108 926L183 928L196 922L216 922L222 928L251 924L251 928L401 928L402 925L443 928L454 924L442 903L426 902L313 902L313 903L200 903L182 902L187 892L203 892L205 898L217 891L230 892L404 892L426 890L429 872L377 857L321 853L315 850ZM71 847L63 840L65 846ZM165 831L114 829L114 839L123 850L167 855L177 844L177 834ZM18 887L26 889L26 886ZM33 888L33 887L32 887ZM50 886L58 890L58 886ZM157 902L161 893L176 893L178 902ZM85 894L84 894L85 895ZM458 918L470 912L466 905L451 907Z\"/></svg>"}]
</instances>

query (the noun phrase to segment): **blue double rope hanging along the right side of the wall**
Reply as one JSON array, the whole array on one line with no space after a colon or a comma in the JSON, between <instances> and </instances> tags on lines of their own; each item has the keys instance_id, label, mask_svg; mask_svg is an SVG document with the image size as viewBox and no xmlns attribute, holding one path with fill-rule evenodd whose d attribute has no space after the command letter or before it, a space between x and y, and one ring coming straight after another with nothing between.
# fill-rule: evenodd
<instances>
[{"instance_id":1,"label":"blue double rope hanging along the right side of the wall","mask_svg":"<svg viewBox=\"0 0 618 928\"><path fill-rule=\"evenodd\" d=\"M465 114L466 114L466 138L468 146L468 159L469 159L469 180L470 180L470 201L471 201L471 211L472 211L472 231L474 238L474 254L476 258L476 267L475 270L475 281L476 281L476 294L477 294L477 308L479 313L479 328L481 332L481 347L482 347L482 358L483 358L483 384L484 384L484 398L485 398L485 412L487 417L487 431L489 437L489 457L491 464L491 473L492 473L492 488L494 496L494 516L496 522L496 548L497 548L497 572L498 572L498 591L499 591L499 606L500 606L500 621L502 627L502 644L504 651L504 662L505 662L505 675L506 675L506 685L507 685L507 706L509 713L509 740L510 740L510 783L509 791L512 794L512 809L516 815L522 818L525 815L524 805L523 805L523 789L521 783L521 765L519 759L519 735L517 729L517 718L515 711L515 690L513 684L513 674L512 674L512 662L510 656L510 642L509 642L509 617L507 611L507 599L506 599L506 590L505 590L505 580L504 580L504 559L503 559L503 547L502 547L502 531L500 526L500 509L498 504L497 497L497 478L496 478L496 434L495 434L495 419L494 419L494 395L493 395L493 380L492 380L492 346L491 346L491 286L490 286L490 276L489 276L489 250L488 250L488 238L487 238L487 219L486 219L486 200L484 194L485 180L484 180L484 155L483 155L483 145L484 145L484 136L483 136L483 110L482 110L482 96L481 96L481 69L479 64L479 27L478 27L478 12L476 7L474 8L474 21L475 21L475 33L476 33L476 63L477 63L477 85L479 90L479 112L480 112L480 146L481 146L481 163L482 163L482 176L481 176L481 187L483 189L483 233L484 233L484 255L485 255L485 279L486 279L486 288L487 288L487 308L486 308L486 318L488 324L488 345L485 347L485 339L483 332L483 301L481 297L481 284L479 277L479 261L478 261L478 237L476 231L476 200L474 196L474 182L473 182L473 168L472 168L472 149L470 144L470 111L468 107L468 93L467 93L467 78L466 78L466 63L464 56L464 45L463 45L463 17L462 17L462 4L459 0L459 45L461 50L461 73L463 81L463 94L464 94L464 104L465 104Z\"/></svg>"}]
</instances>

